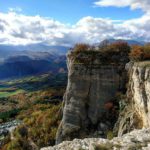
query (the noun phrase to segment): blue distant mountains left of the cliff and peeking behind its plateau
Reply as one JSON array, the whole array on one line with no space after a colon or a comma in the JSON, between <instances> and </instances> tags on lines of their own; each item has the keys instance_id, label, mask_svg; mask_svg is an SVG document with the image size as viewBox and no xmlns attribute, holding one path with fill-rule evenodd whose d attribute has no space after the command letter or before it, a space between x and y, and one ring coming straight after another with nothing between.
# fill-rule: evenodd
<instances>
[{"instance_id":1,"label":"blue distant mountains left of the cliff and peeking behind its plateau","mask_svg":"<svg viewBox=\"0 0 150 150\"><path fill-rule=\"evenodd\" d=\"M107 39L113 43L120 40ZM129 45L144 45L145 42L124 40ZM0 79L23 77L46 72L66 72L66 53L69 47L31 44L26 46L0 45Z\"/></svg>"}]
</instances>

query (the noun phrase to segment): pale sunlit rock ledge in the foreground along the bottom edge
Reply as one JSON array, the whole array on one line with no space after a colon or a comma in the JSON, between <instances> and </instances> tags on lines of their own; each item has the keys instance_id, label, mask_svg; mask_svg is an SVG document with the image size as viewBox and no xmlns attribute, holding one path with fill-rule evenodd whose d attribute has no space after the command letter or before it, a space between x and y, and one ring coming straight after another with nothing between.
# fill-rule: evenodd
<instances>
[{"instance_id":1,"label":"pale sunlit rock ledge in the foreground along the bottom edge","mask_svg":"<svg viewBox=\"0 0 150 150\"><path fill-rule=\"evenodd\" d=\"M150 128L134 130L112 140L101 138L74 139L41 150L150 150Z\"/></svg>"}]
</instances>

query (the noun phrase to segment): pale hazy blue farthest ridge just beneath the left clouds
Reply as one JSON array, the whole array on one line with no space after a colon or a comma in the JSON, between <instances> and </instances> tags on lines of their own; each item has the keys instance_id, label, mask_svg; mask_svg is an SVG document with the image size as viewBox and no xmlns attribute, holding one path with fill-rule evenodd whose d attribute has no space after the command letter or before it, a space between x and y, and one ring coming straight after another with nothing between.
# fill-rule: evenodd
<instances>
[{"instance_id":1,"label":"pale hazy blue farthest ridge just beneath the left clouds","mask_svg":"<svg viewBox=\"0 0 150 150\"><path fill-rule=\"evenodd\" d=\"M49 46L45 44L30 45L2 45L0 44L0 61L16 55L36 55L38 52L48 52L55 55L65 55L69 47L65 46ZM44 53L42 53L43 55Z\"/></svg>"}]
</instances>

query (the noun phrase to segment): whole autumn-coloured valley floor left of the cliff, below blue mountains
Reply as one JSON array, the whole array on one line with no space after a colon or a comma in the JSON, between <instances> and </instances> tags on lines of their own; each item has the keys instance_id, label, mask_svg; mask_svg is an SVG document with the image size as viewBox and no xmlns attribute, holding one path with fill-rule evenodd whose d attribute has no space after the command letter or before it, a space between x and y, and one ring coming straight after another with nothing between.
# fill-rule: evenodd
<instances>
[{"instance_id":1,"label":"whole autumn-coloured valley floor left of the cliff, below blue mountains","mask_svg":"<svg viewBox=\"0 0 150 150\"><path fill-rule=\"evenodd\" d=\"M66 82L65 73L0 82L0 149L28 149L31 143L39 149L55 144Z\"/></svg>"}]
</instances>

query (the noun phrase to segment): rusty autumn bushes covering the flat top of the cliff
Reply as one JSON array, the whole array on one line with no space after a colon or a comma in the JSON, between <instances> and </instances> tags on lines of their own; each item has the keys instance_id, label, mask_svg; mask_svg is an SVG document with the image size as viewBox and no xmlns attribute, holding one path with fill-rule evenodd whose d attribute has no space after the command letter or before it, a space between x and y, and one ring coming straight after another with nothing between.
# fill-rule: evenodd
<instances>
[{"instance_id":1,"label":"rusty autumn bushes covering the flat top of the cliff","mask_svg":"<svg viewBox=\"0 0 150 150\"><path fill-rule=\"evenodd\" d=\"M118 64L127 61L145 61L150 59L150 44L144 46L128 45L124 41L115 43L103 43L99 46L90 46L79 43L72 49L70 56L75 58L76 63L89 64L95 58L101 63Z\"/></svg>"}]
</instances>

